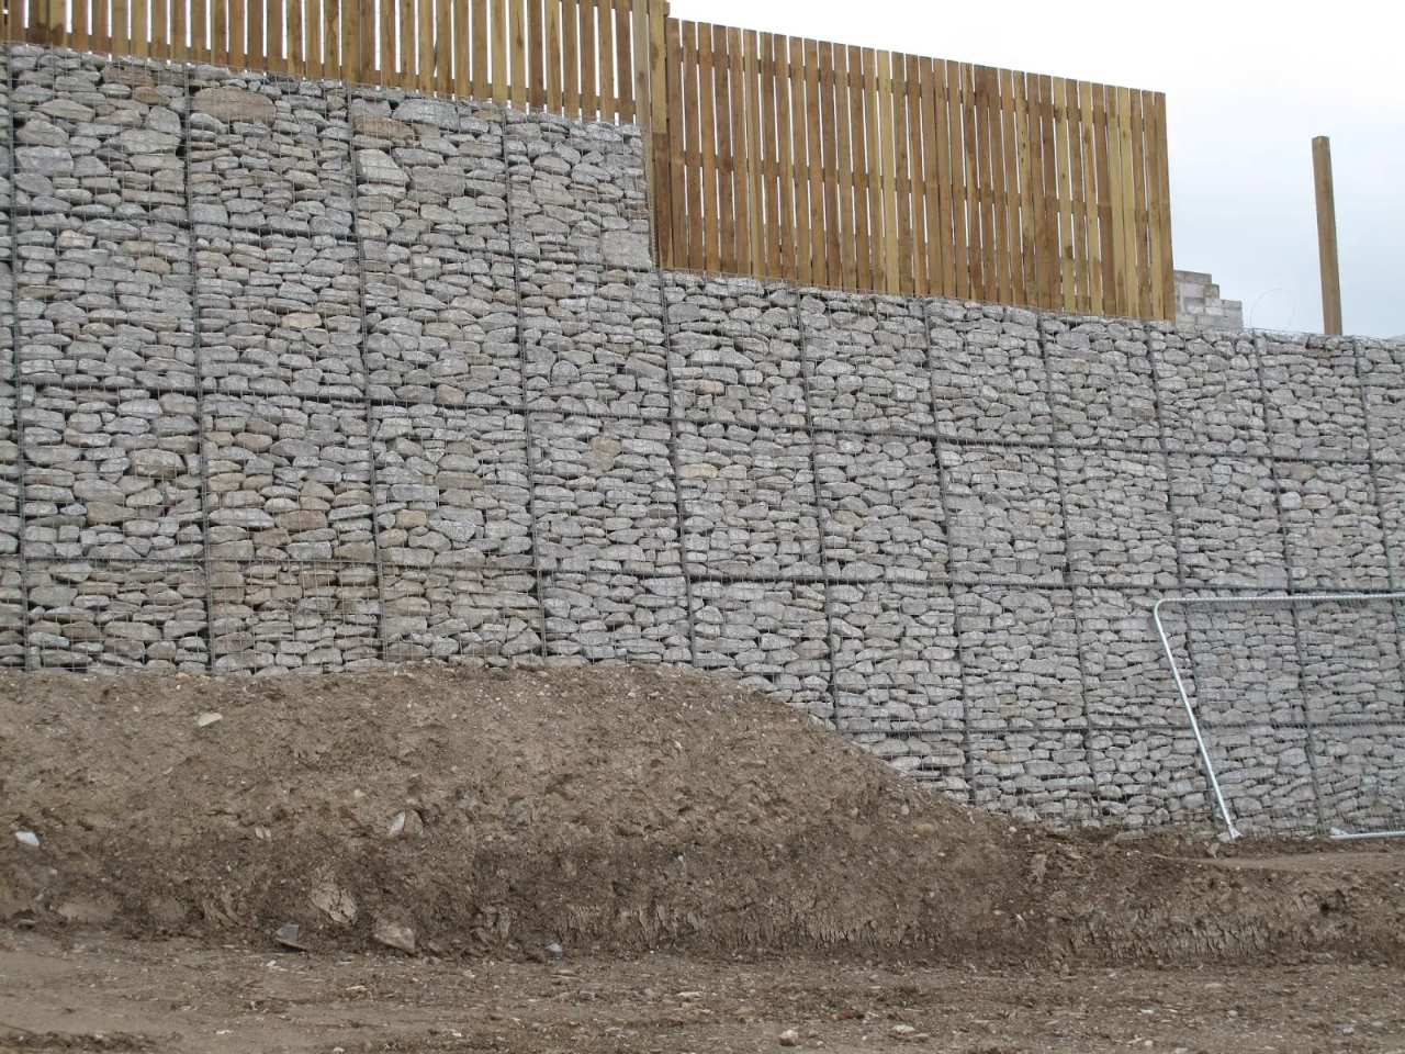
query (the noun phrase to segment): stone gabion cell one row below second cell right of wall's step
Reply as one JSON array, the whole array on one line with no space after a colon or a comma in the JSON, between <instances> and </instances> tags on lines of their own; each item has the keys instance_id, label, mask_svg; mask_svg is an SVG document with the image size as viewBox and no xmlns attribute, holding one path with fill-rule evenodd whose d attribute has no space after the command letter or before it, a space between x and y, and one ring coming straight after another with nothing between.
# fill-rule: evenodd
<instances>
[{"instance_id":1,"label":"stone gabion cell one row below second cell right of wall's step","mask_svg":"<svg viewBox=\"0 0 1405 1054\"><path fill-rule=\"evenodd\" d=\"M941 467L930 438L815 434L826 573L833 579L946 579Z\"/></svg>"}]
</instances>

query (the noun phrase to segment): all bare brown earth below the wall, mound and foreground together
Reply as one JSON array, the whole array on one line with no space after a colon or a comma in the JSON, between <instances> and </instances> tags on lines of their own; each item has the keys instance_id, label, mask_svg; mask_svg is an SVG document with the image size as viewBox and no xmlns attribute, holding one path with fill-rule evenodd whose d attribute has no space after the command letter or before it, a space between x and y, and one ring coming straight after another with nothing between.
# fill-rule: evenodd
<instances>
[{"instance_id":1,"label":"all bare brown earth below the wall, mound and foreground together","mask_svg":"<svg viewBox=\"0 0 1405 1054\"><path fill-rule=\"evenodd\" d=\"M0 826L0 1051L1405 1051L1398 845L1013 824L686 670L6 675Z\"/></svg>"}]
</instances>

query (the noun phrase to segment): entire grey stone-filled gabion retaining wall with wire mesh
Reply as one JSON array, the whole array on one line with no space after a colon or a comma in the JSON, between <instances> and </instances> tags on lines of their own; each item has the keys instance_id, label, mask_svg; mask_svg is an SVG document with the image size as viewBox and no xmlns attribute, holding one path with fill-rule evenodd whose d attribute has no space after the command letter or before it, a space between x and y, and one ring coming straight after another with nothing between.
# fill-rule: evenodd
<instances>
[{"instance_id":1,"label":"entire grey stone-filled gabion retaining wall with wire mesh","mask_svg":"<svg viewBox=\"0 0 1405 1054\"><path fill-rule=\"evenodd\" d=\"M1159 597L1398 586L1398 343L660 271L635 128L3 60L7 666L691 663L1154 826ZM1250 825L1399 809L1398 614L1172 625Z\"/></svg>"}]
</instances>

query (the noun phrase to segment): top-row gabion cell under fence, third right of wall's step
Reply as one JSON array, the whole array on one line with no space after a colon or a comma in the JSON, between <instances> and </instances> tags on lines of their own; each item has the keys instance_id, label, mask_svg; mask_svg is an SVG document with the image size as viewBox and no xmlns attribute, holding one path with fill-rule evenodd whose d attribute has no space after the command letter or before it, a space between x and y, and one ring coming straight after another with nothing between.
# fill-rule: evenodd
<instances>
[{"instance_id":1,"label":"top-row gabion cell under fence, third right of wall's step","mask_svg":"<svg viewBox=\"0 0 1405 1054\"><path fill-rule=\"evenodd\" d=\"M933 301L932 393L943 436L967 441L1052 436L1038 315Z\"/></svg>"}]
</instances>

